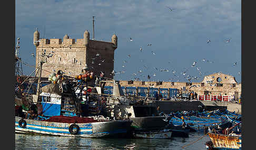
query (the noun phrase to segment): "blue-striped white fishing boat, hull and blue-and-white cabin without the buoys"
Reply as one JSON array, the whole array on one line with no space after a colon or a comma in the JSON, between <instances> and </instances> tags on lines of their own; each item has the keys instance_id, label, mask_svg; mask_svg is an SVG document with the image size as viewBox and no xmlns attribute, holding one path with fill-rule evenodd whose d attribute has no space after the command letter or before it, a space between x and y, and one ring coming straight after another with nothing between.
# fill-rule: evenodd
<instances>
[{"instance_id":1,"label":"blue-striped white fishing boat, hull and blue-and-white cabin without the buoys","mask_svg":"<svg viewBox=\"0 0 256 150\"><path fill-rule=\"evenodd\" d=\"M47 92L51 91L51 92ZM130 120L111 120L102 115L83 116L84 101L76 95L60 93L57 84L42 88L37 113L31 110L15 116L15 133L32 133L76 137L125 136L131 130ZM42 108L40 110L39 108Z\"/></svg>"}]
</instances>

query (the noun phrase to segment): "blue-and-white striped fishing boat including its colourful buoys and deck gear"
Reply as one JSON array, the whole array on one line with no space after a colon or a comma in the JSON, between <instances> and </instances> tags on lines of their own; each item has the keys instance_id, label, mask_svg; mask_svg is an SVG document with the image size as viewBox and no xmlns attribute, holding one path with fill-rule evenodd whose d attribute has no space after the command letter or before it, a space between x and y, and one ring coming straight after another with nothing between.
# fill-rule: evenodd
<instances>
[{"instance_id":1,"label":"blue-and-white striped fishing boat including its colourful buoys and deck gear","mask_svg":"<svg viewBox=\"0 0 256 150\"><path fill-rule=\"evenodd\" d=\"M100 99L83 93L84 89L88 90L87 82L75 80L74 84L69 84L63 80L62 83L50 83L37 90L41 91L39 95L26 100L29 101L26 104L28 111L22 109L21 100L15 99L17 110L22 110L15 116L15 133L92 138L122 137L129 133L132 121L99 115L98 107L97 111L88 111L89 103L99 104ZM81 91L77 93L78 88ZM83 95L86 95L86 100Z\"/></svg>"}]
</instances>

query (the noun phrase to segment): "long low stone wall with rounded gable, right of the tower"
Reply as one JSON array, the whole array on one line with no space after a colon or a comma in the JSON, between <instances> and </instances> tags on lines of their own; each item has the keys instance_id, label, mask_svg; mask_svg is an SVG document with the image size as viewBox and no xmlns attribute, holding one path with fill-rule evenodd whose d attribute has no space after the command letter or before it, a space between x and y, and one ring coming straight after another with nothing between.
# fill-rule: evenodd
<instances>
[{"instance_id":1,"label":"long low stone wall with rounded gable, right of the tower","mask_svg":"<svg viewBox=\"0 0 256 150\"><path fill-rule=\"evenodd\" d=\"M214 77L214 78L213 78ZM217 78L222 81L217 82ZM212 82L210 82L212 81ZM214 73L205 76L202 82L156 82L156 81L119 81L121 87L152 87L152 88L173 88L182 92L194 91L198 95L235 95L238 100L241 95L241 83L237 83L233 76L223 73ZM106 84L106 86L111 84ZM183 91L185 87L185 91Z\"/></svg>"}]
</instances>

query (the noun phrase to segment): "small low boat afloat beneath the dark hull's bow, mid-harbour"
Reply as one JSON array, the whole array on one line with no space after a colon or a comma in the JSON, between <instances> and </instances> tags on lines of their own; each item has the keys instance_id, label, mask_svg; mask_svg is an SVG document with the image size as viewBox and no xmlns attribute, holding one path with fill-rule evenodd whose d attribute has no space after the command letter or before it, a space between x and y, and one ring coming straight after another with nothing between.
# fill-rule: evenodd
<instances>
[{"instance_id":1,"label":"small low boat afloat beneath the dark hull's bow, mid-harbour","mask_svg":"<svg viewBox=\"0 0 256 150\"><path fill-rule=\"evenodd\" d=\"M137 131L133 135L135 138L171 138L172 130Z\"/></svg>"}]
</instances>

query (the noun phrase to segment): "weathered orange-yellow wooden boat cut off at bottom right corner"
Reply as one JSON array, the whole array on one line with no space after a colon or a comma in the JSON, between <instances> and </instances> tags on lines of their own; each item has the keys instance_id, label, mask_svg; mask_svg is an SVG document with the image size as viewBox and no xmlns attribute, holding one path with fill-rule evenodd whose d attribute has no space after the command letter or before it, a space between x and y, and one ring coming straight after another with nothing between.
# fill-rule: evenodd
<instances>
[{"instance_id":1,"label":"weathered orange-yellow wooden boat cut off at bottom right corner","mask_svg":"<svg viewBox=\"0 0 256 150\"><path fill-rule=\"evenodd\" d=\"M223 135L208 133L211 138L213 147L206 145L206 148L215 148L215 149L241 149L242 148L242 139L241 135Z\"/></svg>"}]
</instances>

